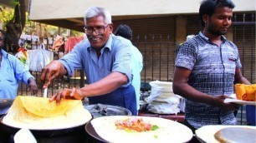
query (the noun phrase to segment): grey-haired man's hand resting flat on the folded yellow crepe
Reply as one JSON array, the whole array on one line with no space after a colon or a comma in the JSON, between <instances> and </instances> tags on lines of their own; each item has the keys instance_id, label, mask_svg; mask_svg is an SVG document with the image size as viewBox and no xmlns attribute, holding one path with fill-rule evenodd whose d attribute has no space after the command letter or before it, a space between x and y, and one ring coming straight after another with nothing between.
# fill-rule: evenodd
<instances>
[{"instance_id":1,"label":"grey-haired man's hand resting flat on the folded yellow crepe","mask_svg":"<svg viewBox=\"0 0 256 143\"><path fill-rule=\"evenodd\" d=\"M59 91L54 96L51 97L50 101L56 100L57 105L60 104L62 99L78 99L82 100L84 96L80 93L79 89L67 89L65 88L63 91Z\"/></svg>"}]
</instances>

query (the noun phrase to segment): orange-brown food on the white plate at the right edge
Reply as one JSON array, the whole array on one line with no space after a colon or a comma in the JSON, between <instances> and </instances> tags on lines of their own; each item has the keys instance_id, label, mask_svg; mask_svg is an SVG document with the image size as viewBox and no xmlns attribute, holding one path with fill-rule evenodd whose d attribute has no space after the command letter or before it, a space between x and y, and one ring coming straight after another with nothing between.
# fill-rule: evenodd
<instances>
[{"instance_id":1,"label":"orange-brown food on the white plate at the right edge","mask_svg":"<svg viewBox=\"0 0 256 143\"><path fill-rule=\"evenodd\" d=\"M236 84L235 90L236 90L236 96L238 100L256 101L256 84L252 84L252 85Z\"/></svg>"}]
</instances>

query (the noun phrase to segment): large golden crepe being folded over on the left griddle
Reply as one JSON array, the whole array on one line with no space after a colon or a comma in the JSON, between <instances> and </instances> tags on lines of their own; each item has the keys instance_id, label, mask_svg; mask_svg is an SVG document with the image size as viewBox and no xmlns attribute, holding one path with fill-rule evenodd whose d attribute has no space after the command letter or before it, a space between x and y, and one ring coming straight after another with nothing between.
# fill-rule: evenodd
<instances>
[{"instance_id":1,"label":"large golden crepe being folded over on the left griddle","mask_svg":"<svg viewBox=\"0 0 256 143\"><path fill-rule=\"evenodd\" d=\"M37 96L17 96L3 123L8 126L28 129L64 129L84 125L92 118L80 100L56 101Z\"/></svg>"}]
</instances>

